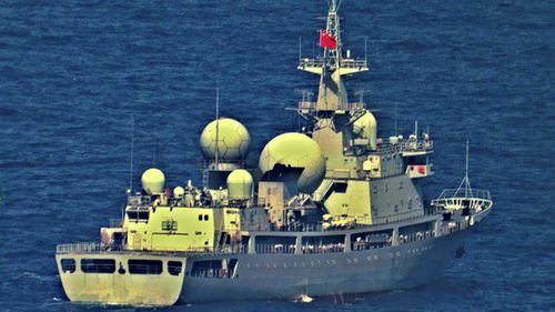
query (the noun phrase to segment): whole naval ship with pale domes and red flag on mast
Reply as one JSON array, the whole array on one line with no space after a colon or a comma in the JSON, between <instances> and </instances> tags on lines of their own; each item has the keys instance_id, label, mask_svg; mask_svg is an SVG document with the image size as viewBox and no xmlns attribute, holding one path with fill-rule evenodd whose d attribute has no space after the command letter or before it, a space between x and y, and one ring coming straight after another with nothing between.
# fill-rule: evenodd
<instances>
[{"instance_id":1,"label":"whole naval ship with pale domes and red flag on mast","mask_svg":"<svg viewBox=\"0 0 555 312\"><path fill-rule=\"evenodd\" d=\"M299 69L320 76L316 101L295 108L310 127L280 134L245 159L251 137L231 118L202 131L202 187L165 185L142 173L122 219L98 242L60 244L56 262L70 301L123 305L234 300L311 300L407 289L442 276L492 210L488 191L457 189L423 200L434 143L376 134L343 79L367 71L342 51L340 1L329 1L321 54Z\"/></svg>"}]
</instances>

